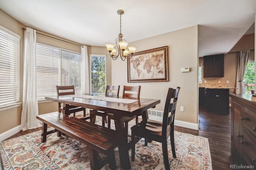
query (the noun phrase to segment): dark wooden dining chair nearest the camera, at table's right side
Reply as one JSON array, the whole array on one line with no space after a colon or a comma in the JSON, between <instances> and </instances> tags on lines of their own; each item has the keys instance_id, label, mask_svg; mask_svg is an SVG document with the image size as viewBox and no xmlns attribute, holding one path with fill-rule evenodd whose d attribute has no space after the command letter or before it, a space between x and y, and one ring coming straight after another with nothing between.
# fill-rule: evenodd
<instances>
[{"instance_id":1,"label":"dark wooden dining chair nearest the camera, at table's right side","mask_svg":"<svg viewBox=\"0 0 256 170\"><path fill-rule=\"evenodd\" d=\"M162 143L162 152L164 157L164 166L166 170L170 170L167 139L170 136L170 142L172 147L172 156L176 158L176 152L174 147L174 116L175 109L178 100L180 87L177 89L168 89L166 102L164 106L164 115L162 123L150 119L142 120L140 123L134 125L132 129L132 161L135 160L135 144L139 140L136 137L145 138L144 146L148 145L148 140L154 140Z\"/></svg>"}]
</instances>

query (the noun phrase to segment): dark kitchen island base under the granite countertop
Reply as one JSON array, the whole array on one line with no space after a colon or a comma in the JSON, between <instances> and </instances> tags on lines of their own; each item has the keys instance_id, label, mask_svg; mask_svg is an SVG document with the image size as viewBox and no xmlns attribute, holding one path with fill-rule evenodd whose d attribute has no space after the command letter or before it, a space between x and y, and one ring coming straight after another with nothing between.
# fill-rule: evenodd
<instances>
[{"instance_id":1,"label":"dark kitchen island base under the granite countertop","mask_svg":"<svg viewBox=\"0 0 256 170\"><path fill-rule=\"evenodd\" d=\"M217 112L223 115L229 114L229 89L206 89L204 96L205 106L208 112Z\"/></svg>"}]
</instances>

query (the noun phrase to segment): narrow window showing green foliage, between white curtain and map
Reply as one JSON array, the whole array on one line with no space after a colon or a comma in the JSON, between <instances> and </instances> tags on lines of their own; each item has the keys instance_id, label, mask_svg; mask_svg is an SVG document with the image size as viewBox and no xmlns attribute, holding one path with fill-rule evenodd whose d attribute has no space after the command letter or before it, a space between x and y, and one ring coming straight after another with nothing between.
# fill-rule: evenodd
<instances>
[{"instance_id":1,"label":"narrow window showing green foliage, between white curtain and map","mask_svg":"<svg viewBox=\"0 0 256 170\"><path fill-rule=\"evenodd\" d=\"M105 93L106 55L90 55L90 93Z\"/></svg>"}]
</instances>

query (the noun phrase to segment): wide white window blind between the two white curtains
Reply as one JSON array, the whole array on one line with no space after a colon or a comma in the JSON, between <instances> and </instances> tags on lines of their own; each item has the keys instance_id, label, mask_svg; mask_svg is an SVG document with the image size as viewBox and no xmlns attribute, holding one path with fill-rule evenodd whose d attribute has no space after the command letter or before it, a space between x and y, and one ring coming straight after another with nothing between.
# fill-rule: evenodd
<instances>
[{"instance_id":1,"label":"wide white window blind between the two white curtains","mask_svg":"<svg viewBox=\"0 0 256 170\"><path fill-rule=\"evenodd\" d=\"M38 100L57 95L56 85L74 85L82 94L81 54L37 42L36 76Z\"/></svg>"}]
</instances>

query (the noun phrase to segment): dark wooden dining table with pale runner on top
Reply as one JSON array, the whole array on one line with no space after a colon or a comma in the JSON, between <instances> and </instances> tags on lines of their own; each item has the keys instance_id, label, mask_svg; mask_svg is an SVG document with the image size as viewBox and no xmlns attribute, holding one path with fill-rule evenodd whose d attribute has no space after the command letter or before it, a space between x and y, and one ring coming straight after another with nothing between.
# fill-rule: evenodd
<instances>
[{"instance_id":1,"label":"dark wooden dining table with pale runner on top","mask_svg":"<svg viewBox=\"0 0 256 170\"><path fill-rule=\"evenodd\" d=\"M114 119L116 120L114 121L116 132L118 134L118 138L120 138L120 140L118 140L118 152L121 168L123 169L130 169L130 158L128 153L130 146L128 143L128 134L124 127L124 118L141 115L143 120L148 119L147 110L155 107L157 104L160 103L159 99L137 99L129 97L110 98L108 96L94 94L52 96L45 97L45 99L63 103L65 107L63 113L66 115L70 114L67 113L69 105L112 113L114 115ZM126 101L132 103L125 103Z\"/></svg>"}]
</instances>

